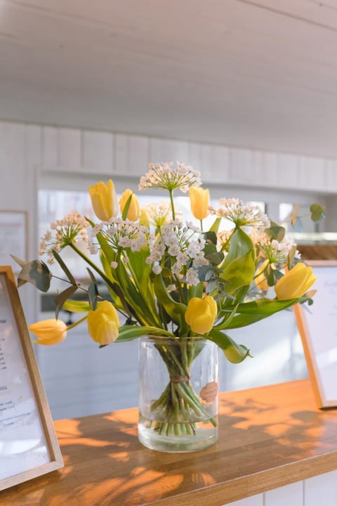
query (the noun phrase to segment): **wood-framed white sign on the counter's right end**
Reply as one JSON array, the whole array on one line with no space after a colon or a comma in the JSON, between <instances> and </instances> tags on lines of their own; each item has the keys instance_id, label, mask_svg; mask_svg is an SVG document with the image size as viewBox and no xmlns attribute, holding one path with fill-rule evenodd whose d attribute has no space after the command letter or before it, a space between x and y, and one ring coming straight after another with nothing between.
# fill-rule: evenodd
<instances>
[{"instance_id":1,"label":"wood-framed white sign on the counter's right end","mask_svg":"<svg viewBox=\"0 0 337 506\"><path fill-rule=\"evenodd\" d=\"M317 406L331 408L337 406L337 261L307 263L317 276L314 304L293 309Z\"/></svg>"}]
</instances>

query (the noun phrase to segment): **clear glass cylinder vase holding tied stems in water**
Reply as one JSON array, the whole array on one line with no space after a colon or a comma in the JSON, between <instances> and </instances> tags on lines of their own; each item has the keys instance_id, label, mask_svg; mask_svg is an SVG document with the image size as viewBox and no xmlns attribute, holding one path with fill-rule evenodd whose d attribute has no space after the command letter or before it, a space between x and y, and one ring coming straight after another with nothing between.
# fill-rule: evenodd
<instances>
[{"instance_id":1,"label":"clear glass cylinder vase holding tied stems in water","mask_svg":"<svg viewBox=\"0 0 337 506\"><path fill-rule=\"evenodd\" d=\"M140 337L138 439L191 452L218 440L218 346L202 337Z\"/></svg>"}]
</instances>

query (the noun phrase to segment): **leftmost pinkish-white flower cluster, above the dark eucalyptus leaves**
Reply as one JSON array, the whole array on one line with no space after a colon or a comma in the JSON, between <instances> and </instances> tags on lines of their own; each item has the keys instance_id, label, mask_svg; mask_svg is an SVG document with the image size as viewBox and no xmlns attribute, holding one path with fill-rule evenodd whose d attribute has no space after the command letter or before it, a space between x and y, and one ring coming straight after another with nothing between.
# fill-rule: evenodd
<instances>
[{"instance_id":1,"label":"leftmost pinkish-white flower cluster, above the dark eucalyptus leaves","mask_svg":"<svg viewBox=\"0 0 337 506\"><path fill-rule=\"evenodd\" d=\"M39 254L42 256L48 254L48 264L54 263L53 249L60 251L63 247L70 245L71 242L88 242L88 221L76 211L64 216L51 223L51 231L41 237ZM55 232L54 232L55 231Z\"/></svg>"}]
</instances>

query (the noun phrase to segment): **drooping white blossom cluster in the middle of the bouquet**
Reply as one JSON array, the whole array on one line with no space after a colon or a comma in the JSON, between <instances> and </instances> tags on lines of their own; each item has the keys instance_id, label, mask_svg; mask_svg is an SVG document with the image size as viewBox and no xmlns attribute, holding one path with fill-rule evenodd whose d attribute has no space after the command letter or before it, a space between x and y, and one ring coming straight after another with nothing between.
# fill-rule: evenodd
<instances>
[{"instance_id":1,"label":"drooping white blossom cluster in the middle of the bouquet","mask_svg":"<svg viewBox=\"0 0 337 506\"><path fill-rule=\"evenodd\" d=\"M192 226L192 223L183 223L179 220L171 220L164 224L161 235L158 238L150 238L150 255L145 260L152 265L152 271L156 274L161 272L159 265L164 254L171 257L171 273L173 276L185 274L186 283L197 285L199 277L197 268L208 265L209 261L204 257L205 240L200 230ZM190 265L189 268L186 268Z\"/></svg>"}]
</instances>

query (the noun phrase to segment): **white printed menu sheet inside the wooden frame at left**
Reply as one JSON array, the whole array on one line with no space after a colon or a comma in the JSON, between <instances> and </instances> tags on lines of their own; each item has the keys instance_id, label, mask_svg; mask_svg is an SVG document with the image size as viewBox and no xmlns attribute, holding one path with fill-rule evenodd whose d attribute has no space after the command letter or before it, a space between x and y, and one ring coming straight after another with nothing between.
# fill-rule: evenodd
<instances>
[{"instance_id":1,"label":"white printed menu sheet inside the wooden frame at left","mask_svg":"<svg viewBox=\"0 0 337 506\"><path fill-rule=\"evenodd\" d=\"M50 461L5 275L0 274L0 479Z\"/></svg>"}]
</instances>

